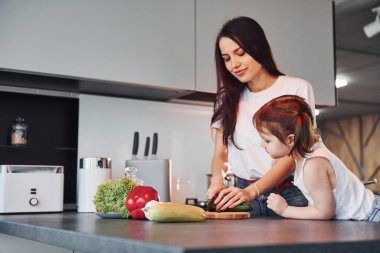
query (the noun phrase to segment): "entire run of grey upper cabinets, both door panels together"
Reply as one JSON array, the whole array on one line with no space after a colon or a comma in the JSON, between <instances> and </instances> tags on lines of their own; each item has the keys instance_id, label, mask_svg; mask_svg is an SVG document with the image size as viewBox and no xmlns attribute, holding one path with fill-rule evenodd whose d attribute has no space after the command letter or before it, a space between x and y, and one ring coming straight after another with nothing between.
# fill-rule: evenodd
<instances>
[{"instance_id":1,"label":"entire run of grey upper cabinets, both door panels together","mask_svg":"<svg viewBox=\"0 0 380 253\"><path fill-rule=\"evenodd\" d=\"M215 93L215 38L237 16L263 26L280 70L309 81L318 105L335 105L331 0L6 0L0 70L83 80L79 92Z\"/></svg>"}]
</instances>

